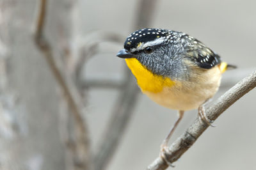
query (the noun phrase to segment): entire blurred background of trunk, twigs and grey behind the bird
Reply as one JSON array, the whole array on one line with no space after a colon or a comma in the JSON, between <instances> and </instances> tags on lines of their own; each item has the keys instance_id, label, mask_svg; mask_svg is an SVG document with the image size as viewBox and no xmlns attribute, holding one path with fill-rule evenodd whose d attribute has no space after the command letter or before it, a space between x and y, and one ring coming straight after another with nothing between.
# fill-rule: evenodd
<instances>
[{"instance_id":1,"label":"entire blurred background of trunk, twigs and grey behind the bird","mask_svg":"<svg viewBox=\"0 0 256 170\"><path fill-rule=\"evenodd\" d=\"M0 169L146 169L177 111L140 93L116 57L125 38L156 27L204 42L238 66L216 99L256 70L255 5L0 0ZM255 97L253 89L228 108L175 169L256 169ZM185 113L170 143L196 116Z\"/></svg>"}]
</instances>

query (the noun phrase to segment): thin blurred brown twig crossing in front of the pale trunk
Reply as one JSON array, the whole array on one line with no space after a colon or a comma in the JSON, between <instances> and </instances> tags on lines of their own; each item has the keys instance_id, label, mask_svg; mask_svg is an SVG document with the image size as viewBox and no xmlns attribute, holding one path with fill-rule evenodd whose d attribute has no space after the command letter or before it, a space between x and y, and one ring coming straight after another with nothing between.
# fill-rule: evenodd
<instances>
[{"instance_id":1,"label":"thin blurred brown twig crossing in front of the pale trunk","mask_svg":"<svg viewBox=\"0 0 256 170\"><path fill-rule=\"evenodd\" d=\"M68 88L65 79L63 79L60 70L56 66L54 62L53 52L50 43L46 40L44 36L44 24L45 24L45 15L46 15L46 6L47 0L40 1L40 9L38 12L38 20L36 23L36 33L35 33L35 42L38 48L44 54L44 57L51 68L52 74L56 78L56 81L60 85L64 93L64 97L67 101L68 107L72 111L72 115L74 116L75 128L76 128L76 137L77 140L74 141L74 151L75 151L75 158L74 158L74 169L90 169L90 161L88 157L89 152L89 139L88 139L88 132L84 125L83 118L81 117L79 107L77 106L74 97L70 89Z\"/></svg>"}]
</instances>

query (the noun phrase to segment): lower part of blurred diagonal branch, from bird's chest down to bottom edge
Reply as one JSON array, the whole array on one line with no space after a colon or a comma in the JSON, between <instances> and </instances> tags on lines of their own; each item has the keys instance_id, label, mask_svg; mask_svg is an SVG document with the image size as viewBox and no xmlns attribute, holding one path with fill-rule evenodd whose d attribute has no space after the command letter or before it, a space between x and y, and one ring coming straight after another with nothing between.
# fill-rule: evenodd
<instances>
[{"instance_id":1,"label":"lower part of blurred diagonal branch, from bird's chest down to bottom edge","mask_svg":"<svg viewBox=\"0 0 256 170\"><path fill-rule=\"evenodd\" d=\"M125 128L132 116L139 89L136 83L131 80L131 77L128 80L130 82L127 83L127 86L123 86L125 90L122 90L113 107L114 111L111 115L108 129L100 139L101 147L97 150L97 157L95 157L95 169L106 168L105 164L109 162L111 156L115 153L116 147L120 139L122 139Z\"/></svg>"}]
</instances>

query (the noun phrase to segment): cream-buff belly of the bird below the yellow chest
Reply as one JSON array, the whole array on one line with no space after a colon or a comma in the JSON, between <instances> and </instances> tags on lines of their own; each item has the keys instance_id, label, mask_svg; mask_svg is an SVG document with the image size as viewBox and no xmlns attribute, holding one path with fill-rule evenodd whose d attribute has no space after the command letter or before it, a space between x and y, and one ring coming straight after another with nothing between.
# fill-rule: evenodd
<instances>
[{"instance_id":1,"label":"cream-buff belly of the bird below the yellow chest","mask_svg":"<svg viewBox=\"0 0 256 170\"><path fill-rule=\"evenodd\" d=\"M192 76L186 82L177 82L172 87L163 88L159 93L143 91L151 100L170 109L188 111L197 109L205 100L218 91L221 80L220 69L216 66Z\"/></svg>"}]
</instances>

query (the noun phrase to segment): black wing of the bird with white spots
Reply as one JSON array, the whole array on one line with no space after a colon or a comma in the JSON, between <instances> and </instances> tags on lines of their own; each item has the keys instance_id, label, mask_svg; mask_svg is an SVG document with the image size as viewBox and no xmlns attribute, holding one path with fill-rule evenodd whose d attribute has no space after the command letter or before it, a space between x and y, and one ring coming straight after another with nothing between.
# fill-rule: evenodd
<instances>
[{"instance_id":1,"label":"black wing of the bird with white spots","mask_svg":"<svg viewBox=\"0 0 256 170\"><path fill-rule=\"evenodd\" d=\"M221 63L220 56L206 47L204 43L189 35L185 35L183 38L187 44L185 49L188 58L195 61L200 68L210 69Z\"/></svg>"}]
</instances>

